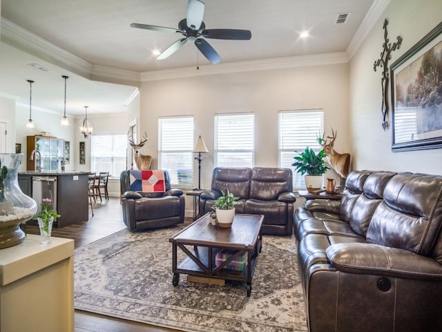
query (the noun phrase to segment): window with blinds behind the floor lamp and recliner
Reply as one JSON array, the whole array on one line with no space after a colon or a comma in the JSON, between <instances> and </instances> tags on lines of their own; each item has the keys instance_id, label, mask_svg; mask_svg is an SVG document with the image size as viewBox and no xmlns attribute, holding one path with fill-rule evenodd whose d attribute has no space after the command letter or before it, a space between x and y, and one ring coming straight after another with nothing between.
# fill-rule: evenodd
<instances>
[{"instance_id":1,"label":"window with blinds behind the floor lamp and recliner","mask_svg":"<svg viewBox=\"0 0 442 332\"><path fill-rule=\"evenodd\" d=\"M172 185L193 186L193 118L158 120L158 168L166 169Z\"/></svg>"}]
</instances>

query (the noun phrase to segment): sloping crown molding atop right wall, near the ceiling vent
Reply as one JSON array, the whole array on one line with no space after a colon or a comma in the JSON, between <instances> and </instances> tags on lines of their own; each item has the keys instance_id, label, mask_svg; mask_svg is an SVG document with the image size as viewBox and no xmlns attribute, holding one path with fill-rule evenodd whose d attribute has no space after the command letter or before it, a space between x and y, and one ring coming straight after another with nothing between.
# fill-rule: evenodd
<instances>
[{"instance_id":1,"label":"sloping crown molding atop right wall, near the ceiling vent","mask_svg":"<svg viewBox=\"0 0 442 332\"><path fill-rule=\"evenodd\" d=\"M385 11L385 8L390 4L390 1L391 0L374 0L372 7L368 10L367 15L365 15L361 25L354 34L352 41L347 46L347 50L345 50L349 59L352 59L359 46L361 46L379 17L381 17Z\"/></svg>"}]
</instances>

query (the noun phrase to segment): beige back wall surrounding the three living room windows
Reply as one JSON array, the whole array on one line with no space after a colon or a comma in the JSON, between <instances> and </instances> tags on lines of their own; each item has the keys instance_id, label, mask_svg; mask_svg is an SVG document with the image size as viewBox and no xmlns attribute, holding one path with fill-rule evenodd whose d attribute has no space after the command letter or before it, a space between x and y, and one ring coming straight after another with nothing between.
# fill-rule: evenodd
<instances>
[{"instance_id":1,"label":"beige back wall surrounding the three living room windows","mask_svg":"<svg viewBox=\"0 0 442 332\"><path fill-rule=\"evenodd\" d=\"M278 111L316 108L324 109L325 129L338 130L336 149L348 151L348 77L347 64L334 64L144 82L140 124L149 140L143 153L151 154L157 167L158 118L192 115L195 138L201 135L210 151L203 156L201 176L202 187L208 188L215 113L255 113L255 166L278 167Z\"/></svg>"}]
</instances>

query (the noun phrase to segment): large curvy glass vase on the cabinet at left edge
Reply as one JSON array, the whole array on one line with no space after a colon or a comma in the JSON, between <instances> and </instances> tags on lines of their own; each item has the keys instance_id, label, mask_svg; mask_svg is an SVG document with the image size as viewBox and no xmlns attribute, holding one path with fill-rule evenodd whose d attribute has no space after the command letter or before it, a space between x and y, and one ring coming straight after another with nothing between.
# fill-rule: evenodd
<instances>
[{"instance_id":1,"label":"large curvy glass vase on the cabinet at left edge","mask_svg":"<svg viewBox=\"0 0 442 332\"><path fill-rule=\"evenodd\" d=\"M19 187L21 158L23 154L0 154L0 249L23 242L26 234L20 225L37 212L37 203Z\"/></svg>"}]
</instances>

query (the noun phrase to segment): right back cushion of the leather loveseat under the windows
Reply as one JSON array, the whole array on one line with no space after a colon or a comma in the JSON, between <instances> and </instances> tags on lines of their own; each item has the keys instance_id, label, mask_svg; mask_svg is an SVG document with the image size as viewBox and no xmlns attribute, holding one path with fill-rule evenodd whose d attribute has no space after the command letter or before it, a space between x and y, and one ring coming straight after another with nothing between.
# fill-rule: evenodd
<instances>
[{"instance_id":1,"label":"right back cushion of the leather loveseat under the windows","mask_svg":"<svg viewBox=\"0 0 442 332\"><path fill-rule=\"evenodd\" d=\"M255 167L251 170L251 199L274 201L279 194L291 192L293 173L288 168Z\"/></svg>"}]
</instances>

